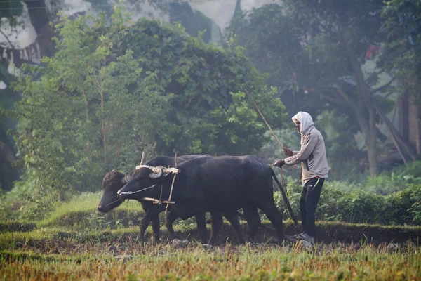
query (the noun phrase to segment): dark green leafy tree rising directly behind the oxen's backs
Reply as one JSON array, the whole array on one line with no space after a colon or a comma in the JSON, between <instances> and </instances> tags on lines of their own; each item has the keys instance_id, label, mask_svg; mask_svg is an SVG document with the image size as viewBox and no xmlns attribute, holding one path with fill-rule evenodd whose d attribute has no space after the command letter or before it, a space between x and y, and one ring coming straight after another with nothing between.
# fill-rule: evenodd
<instances>
[{"instance_id":1,"label":"dark green leafy tree rising directly behind the oxen's backs","mask_svg":"<svg viewBox=\"0 0 421 281\"><path fill-rule=\"evenodd\" d=\"M145 70L159 72L159 84L174 93L168 121L159 134L160 154L243 155L259 148L265 138L244 90L253 95L273 126L281 126L283 105L267 89L260 74L239 47L222 49L186 37L178 25L140 20L122 41Z\"/></svg>"}]
</instances>

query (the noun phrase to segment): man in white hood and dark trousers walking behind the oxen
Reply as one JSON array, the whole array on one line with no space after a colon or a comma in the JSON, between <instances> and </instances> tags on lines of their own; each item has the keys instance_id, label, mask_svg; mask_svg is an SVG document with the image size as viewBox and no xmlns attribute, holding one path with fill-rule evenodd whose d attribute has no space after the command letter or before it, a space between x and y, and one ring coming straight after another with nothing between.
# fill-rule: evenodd
<instances>
[{"instance_id":1,"label":"man in white hood and dark trousers walking behind the oxen","mask_svg":"<svg viewBox=\"0 0 421 281\"><path fill-rule=\"evenodd\" d=\"M286 159L279 159L274 166L292 166L302 163L302 194L300 199L300 214L302 233L295 238L307 240L314 244L316 238L316 224L314 216L320 192L325 178L328 178L328 160L323 136L314 127L313 119L307 112L298 112L293 122L301 134L300 151L283 148Z\"/></svg>"}]
</instances>

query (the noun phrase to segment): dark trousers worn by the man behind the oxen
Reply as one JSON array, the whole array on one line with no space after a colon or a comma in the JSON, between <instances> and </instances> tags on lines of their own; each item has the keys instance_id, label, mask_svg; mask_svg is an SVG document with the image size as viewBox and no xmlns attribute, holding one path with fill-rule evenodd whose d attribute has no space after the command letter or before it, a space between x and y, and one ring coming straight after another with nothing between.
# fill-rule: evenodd
<instances>
[{"instance_id":1,"label":"dark trousers worn by the man behind the oxen","mask_svg":"<svg viewBox=\"0 0 421 281\"><path fill-rule=\"evenodd\" d=\"M316 236L316 214L317 203L319 203L321 188L324 178L311 178L302 187L300 199L300 214L302 221L302 232L310 236Z\"/></svg>"}]
</instances>

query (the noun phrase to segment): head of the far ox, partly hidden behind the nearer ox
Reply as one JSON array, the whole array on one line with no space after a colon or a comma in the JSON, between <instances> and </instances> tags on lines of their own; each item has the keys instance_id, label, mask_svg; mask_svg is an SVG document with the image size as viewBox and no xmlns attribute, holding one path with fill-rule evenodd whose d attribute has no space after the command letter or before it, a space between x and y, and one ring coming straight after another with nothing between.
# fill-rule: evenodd
<instances>
[{"instance_id":1,"label":"head of the far ox, partly hidden behind the nearer ox","mask_svg":"<svg viewBox=\"0 0 421 281\"><path fill-rule=\"evenodd\" d=\"M130 175L126 177L126 175L114 170L104 176L102 179L104 193L102 194L101 202L98 205L98 211L107 213L123 203L123 199L117 195L117 191L128 183L129 179Z\"/></svg>"}]
</instances>

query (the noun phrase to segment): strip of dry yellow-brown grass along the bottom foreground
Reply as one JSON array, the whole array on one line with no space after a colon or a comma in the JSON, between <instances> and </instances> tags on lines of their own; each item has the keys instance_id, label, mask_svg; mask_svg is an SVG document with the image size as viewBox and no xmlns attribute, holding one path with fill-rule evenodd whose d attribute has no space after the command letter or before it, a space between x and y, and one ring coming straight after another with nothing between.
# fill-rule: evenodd
<instances>
[{"instance_id":1,"label":"strip of dry yellow-brown grass along the bottom foreground","mask_svg":"<svg viewBox=\"0 0 421 281\"><path fill-rule=\"evenodd\" d=\"M0 252L2 280L421 280L420 247L300 244L203 249L194 242L141 247L138 243L58 245L58 254L36 249ZM132 255L116 259L115 255Z\"/></svg>"}]
</instances>

